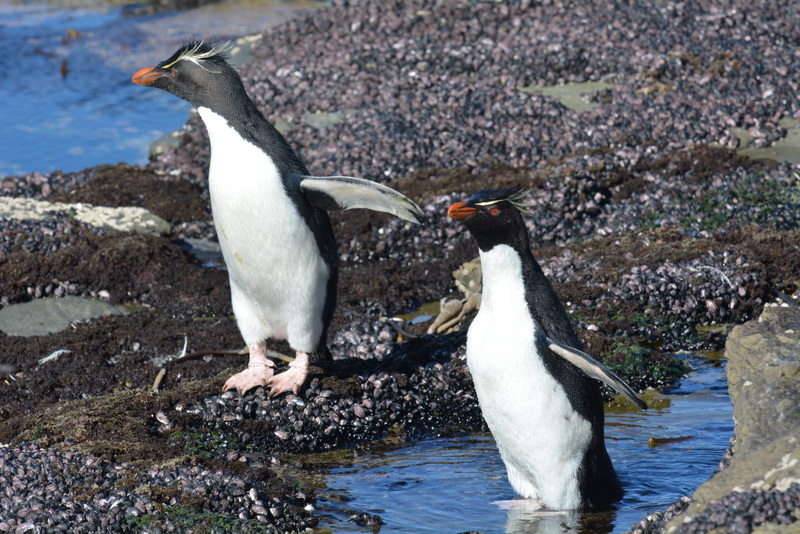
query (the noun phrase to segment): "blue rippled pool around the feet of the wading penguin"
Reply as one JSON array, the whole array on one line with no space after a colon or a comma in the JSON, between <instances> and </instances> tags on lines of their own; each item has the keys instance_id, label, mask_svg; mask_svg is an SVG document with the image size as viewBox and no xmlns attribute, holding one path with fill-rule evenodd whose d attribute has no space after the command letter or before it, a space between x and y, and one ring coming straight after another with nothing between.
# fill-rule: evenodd
<instances>
[{"instance_id":1,"label":"blue rippled pool around the feet of the wading penguin","mask_svg":"<svg viewBox=\"0 0 800 534\"><path fill-rule=\"evenodd\" d=\"M609 413L606 444L625 485L625 498L607 514L506 509L515 495L489 435L421 441L354 459L333 469L326 483L345 504L323 504L321 527L364 532L349 514L367 512L393 533L625 532L648 513L691 495L715 471L733 433L724 362L693 358L698 367L680 386L648 398L647 412ZM651 447L649 439L689 437ZM524 501L515 501L524 504Z\"/></svg>"}]
</instances>

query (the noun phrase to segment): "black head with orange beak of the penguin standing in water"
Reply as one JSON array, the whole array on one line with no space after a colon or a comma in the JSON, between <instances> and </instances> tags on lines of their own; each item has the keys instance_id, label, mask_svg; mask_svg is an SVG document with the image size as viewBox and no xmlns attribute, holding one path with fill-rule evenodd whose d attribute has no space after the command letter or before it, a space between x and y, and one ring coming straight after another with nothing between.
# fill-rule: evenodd
<instances>
[{"instance_id":1,"label":"black head with orange beak of the penguin standing in water","mask_svg":"<svg viewBox=\"0 0 800 534\"><path fill-rule=\"evenodd\" d=\"M456 202L447 214L467 227L483 251L500 244L517 250L530 250L528 230L522 220L525 207L521 204L527 193L518 187L485 189L466 202Z\"/></svg>"}]
</instances>

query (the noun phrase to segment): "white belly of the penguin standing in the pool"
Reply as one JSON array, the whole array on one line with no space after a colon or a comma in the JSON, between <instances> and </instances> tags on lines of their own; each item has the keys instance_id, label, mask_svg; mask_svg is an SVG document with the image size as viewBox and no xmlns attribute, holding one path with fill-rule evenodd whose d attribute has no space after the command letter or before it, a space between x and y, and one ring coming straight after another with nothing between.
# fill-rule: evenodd
<instances>
[{"instance_id":1,"label":"white belly of the penguin standing in the pool","mask_svg":"<svg viewBox=\"0 0 800 534\"><path fill-rule=\"evenodd\" d=\"M577 470L591 426L536 353L519 256L481 251L483 297L467 335L467 364L481 411L514 490L552 509L580 505Z\"/></svg>"}]
</instances>

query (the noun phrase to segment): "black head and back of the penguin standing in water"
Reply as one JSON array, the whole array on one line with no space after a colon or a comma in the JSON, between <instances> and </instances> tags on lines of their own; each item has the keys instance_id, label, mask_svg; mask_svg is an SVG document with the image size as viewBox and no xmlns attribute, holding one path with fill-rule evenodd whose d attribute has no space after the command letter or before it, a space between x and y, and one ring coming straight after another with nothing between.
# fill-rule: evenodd
<instances>
[{"instance_id":1,"label":"black head and back of the penguin standing in water","mask_svg":"<svg viewBox=\"0 0 800 534\"><path fill-rule=\"evenodd\" d=\"M583 350L567 312L533 257L528 231L522 219L519 189L479 191L466 202L475 213L461 221L488 252L503 244L519 254L528 310L543 334L536 339L547 371L564 387L572 409L592 425L592 439L578 470L578 484L586 510L607 509L622 498L623 491L605 447L603 397L598 382L547 347L545 336Z\"/></svg>"}]
</instances>

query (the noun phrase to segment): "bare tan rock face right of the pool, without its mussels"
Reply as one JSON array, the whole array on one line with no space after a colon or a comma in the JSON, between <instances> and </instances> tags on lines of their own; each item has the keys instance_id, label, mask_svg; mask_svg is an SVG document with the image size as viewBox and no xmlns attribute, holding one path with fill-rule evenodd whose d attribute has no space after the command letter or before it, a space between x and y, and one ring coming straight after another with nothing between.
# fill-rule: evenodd
<instances>
[{"instance_id":1,"label":"bare tan rock face right of the pool, without its mussels","mask_svg":"<svg viewBox=\"0 0 800 534\"><path fill-rule=\"evenodd\" d=\"M708 511L723 502L767 499L794 506L800 488L800 308L767 307L757 321L735 327L725 346L728 386L734 407L736 445L733 460L700 486L686 513L666 532L697 531L692 522L708 521ZM745 497L746 496L746 497ZM800 508L800 505L798 505ZM792 510L792 508L789 508ZM746 515L739 510L740 516ZM794 511L796 518L797 508ZM752 523L757 526L759 522ZM798 523L761 528L798 532Z\"/></svg>"}]
</instances>

